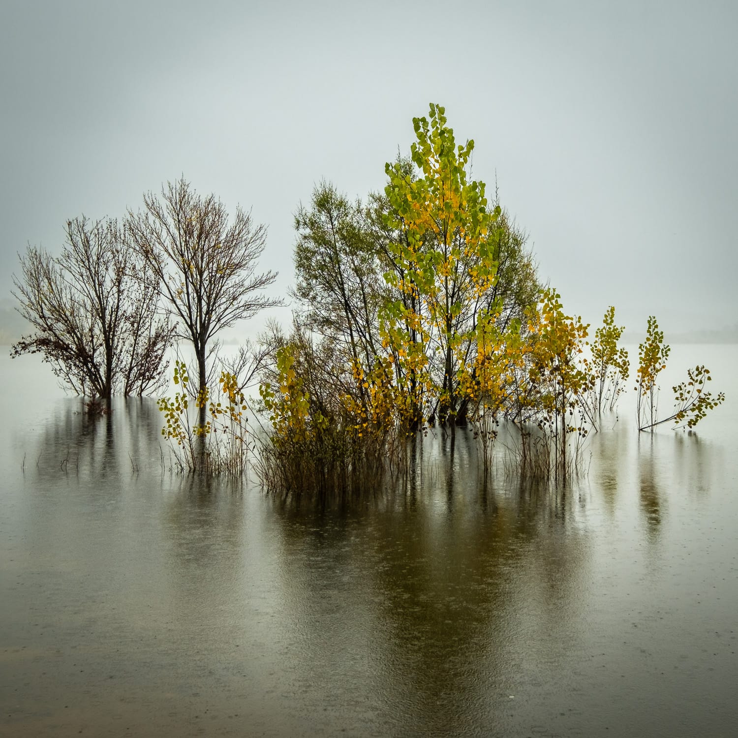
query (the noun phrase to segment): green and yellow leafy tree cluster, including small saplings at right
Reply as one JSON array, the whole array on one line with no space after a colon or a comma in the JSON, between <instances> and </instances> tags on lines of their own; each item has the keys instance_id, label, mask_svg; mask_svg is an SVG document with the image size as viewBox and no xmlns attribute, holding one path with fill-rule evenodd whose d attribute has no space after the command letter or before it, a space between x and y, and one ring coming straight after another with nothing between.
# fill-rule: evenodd
<instances>
[{"instance_id":1,"label":"green and yellow leafy tree cluster, including small saplings at right","mask_svg":"<svg viewBox=\"0 0 738 738\"><path fill-rule=\"evenodd\" d=\"M615 308L590 342L539 282L525 233L469 178L474 142L456 142L441 106L413 125L410 158L385 166L384 192L351 202L323 182L297 212L294 325L267 338L277 362L261 386L270 486L360 486L379 460L399 463L398 432L432 425L471 423L489 466L503 418L519 432L520 472L566 477L624 390ZM653 354L642 348L639 420L656 391ZM692 427L722 401L697 387L706 377L698 368L675 388L669 420Z\"/></svg>"}]
</instances>

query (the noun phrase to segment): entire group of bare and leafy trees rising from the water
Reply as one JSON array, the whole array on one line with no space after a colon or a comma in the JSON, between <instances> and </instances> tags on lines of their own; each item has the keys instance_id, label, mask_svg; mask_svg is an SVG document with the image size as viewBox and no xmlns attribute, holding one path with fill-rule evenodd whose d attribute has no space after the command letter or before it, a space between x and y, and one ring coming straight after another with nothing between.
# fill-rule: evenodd
<instances>
[{"instance_id":1,"label":"entire group of bare and leafy trees rising from the water","mask_svg":"<svg viewBox=\"0 0 738 738\"><path fill-rule=\"evenodd\" d=\"M322 182L295 215L292 328L269 326L249 373L258 370L269 418L258 463L274 489L373 485L401 466L404 438L434 425L454 433L472 424L489 467L503 418L519 432L520 472L566 477L627 382L615 308L590 343L589 326L540 283L497 193L488 199L469 176L474 142L456 141L441 106L413 125L410 157L385 165L381 193L350 201ZM13 351L41 351L75 390L109 398L159 387L170 343L186 339L197 382L177 365L182 393L159 401L164 435L196 469L197 439L218 426L228 458L242 461L246 380L236 375L248 352L210 382L217 402L209 351L221 328L278 304L263 292L275 275L256 270L265 235L184 180L145 195L120 225L70 221L61 257L29 249L21 258L16 296L36 333ZM704 391L709 373L698 367L675 387L675 414L660 421L656 377L668 351L649 319L641 430L667 420L692 427L723 401ZM194 426L188 407L199 409Z\"/></svg>"}]
</instances>

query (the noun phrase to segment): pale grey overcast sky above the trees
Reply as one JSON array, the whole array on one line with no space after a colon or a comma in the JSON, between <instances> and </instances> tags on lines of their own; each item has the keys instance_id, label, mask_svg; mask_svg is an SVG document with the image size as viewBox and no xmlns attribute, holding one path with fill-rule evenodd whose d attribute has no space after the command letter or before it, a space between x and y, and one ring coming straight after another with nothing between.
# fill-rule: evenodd
<instances>
[{"instance_id":1,"label":"pale grey overcast sky above the trees","mask_svg":"<svg viewBox=\"0 0 738 738\"><path fill-rule=\"evenodd\" d=\"M383 187L433 101L569 311L734 325L737 9L0 0L0 297L27 244L180 174L269 226L284 292L300 201Z\"/></svg>"}]
</instances>

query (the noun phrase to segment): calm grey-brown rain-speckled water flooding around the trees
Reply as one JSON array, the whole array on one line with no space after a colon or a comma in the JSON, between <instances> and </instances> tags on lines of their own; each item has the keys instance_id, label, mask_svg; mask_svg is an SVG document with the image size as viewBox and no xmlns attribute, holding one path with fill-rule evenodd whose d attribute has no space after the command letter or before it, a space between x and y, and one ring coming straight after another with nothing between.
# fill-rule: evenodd
<instances>
[{"instance_id":1,"label":"calm grey-brown rain-speckled water flooding around the trees","mask_svg":"<svg viewBox=\"0 0 738 738\"><path fill-rule=\"evenodd\" d=\"M461 432L320 508L162 472L153 400L90 421L0 356L0 734L736 735L738 347L662 386L697 361L697 434L631 393L568 489L484 489Z\"/></svg>"}]
</instances>

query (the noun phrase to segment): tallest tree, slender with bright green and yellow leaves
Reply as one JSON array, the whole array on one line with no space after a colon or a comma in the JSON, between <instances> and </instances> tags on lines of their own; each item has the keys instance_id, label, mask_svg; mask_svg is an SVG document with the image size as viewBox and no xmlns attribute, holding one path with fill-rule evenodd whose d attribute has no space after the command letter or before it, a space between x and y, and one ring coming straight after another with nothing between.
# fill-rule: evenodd
<instances>
[{"instance_id":1,"label":"tallest tree, slender with bright green and yellow leaves","mask_svg":"<svg viewBox=\"0 0 738 738\"><path fill-rule=\"evenodd\" d=\"M431 105L430 120L414 118L413 126L419 176L403 162L385 165L386 226L401 238L389 245L392 268L384 278L400 297L384 308L381 325L408 398L406 422L417 428L427 409L431 417L437 410L441 423L455 421L459 369L472 354L477 311L497 275L500 208L489 210L483 182L469 182L474 142L456 144L444 108Z\"/></svg>"}]
</instances>

